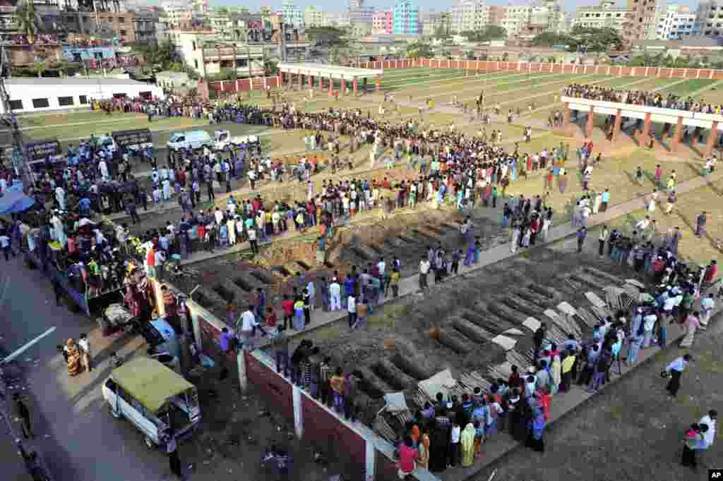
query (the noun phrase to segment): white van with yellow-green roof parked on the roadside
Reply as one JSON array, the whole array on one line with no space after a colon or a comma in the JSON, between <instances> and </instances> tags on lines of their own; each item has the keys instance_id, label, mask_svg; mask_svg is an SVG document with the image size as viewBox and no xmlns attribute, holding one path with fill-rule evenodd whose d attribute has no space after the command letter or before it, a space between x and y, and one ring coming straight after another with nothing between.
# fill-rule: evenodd
<instances>
[{"instance_id":1,"label":"white van with yellow-green roof parked on the roadside","mask_svg":"<svg viewBox=\"0 0 723 481\"><path fill-rule=\"evenodd\" d=\"M114 417L125 417L149 448L165 446L171 427L176 440L192 435L201 420L196 386L155 359L138 357L111 371L103 399Z\"/></svg>"}]
</instances>

